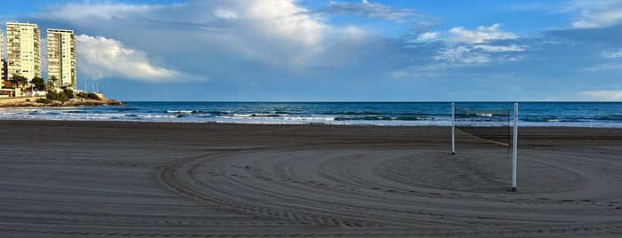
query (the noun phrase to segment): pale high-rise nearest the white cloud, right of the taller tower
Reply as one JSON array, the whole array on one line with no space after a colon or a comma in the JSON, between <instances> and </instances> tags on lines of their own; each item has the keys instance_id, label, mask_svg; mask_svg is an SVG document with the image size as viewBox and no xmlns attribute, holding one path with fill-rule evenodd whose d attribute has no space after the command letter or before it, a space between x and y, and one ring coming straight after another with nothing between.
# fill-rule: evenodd
<instances>
[{"instance_id":1,"label":"pale high-rise nearest the white cloud, right of the taller tower","mask_svg":"<svg viewBox=\"0 0 622 238\"><path fill-rule=\"evenodd\" d=\"M76 36L73 30L47 29L47 78L57 88L76 90Z\"/></svg>"}]
</instances>

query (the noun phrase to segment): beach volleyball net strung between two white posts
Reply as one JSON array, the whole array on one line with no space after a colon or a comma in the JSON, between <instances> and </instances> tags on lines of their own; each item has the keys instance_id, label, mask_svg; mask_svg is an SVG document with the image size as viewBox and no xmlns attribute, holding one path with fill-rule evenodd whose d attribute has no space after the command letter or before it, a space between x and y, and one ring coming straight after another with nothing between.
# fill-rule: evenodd
<instances>
[{"instance_id":1,"label":"beach volleyball net strung between two white posts","mask_svg":"<svg viewBox=\"0 0 622 238\"><path fill-rule=\"evenodd\" d=\"M456 154L456 130L475 139L508 147L508 157L512 154L512 191L516 191L518 103L514 103L513 110L464 108L452 103L451 117L451 154Z\"/></svg>"}]
</instances>

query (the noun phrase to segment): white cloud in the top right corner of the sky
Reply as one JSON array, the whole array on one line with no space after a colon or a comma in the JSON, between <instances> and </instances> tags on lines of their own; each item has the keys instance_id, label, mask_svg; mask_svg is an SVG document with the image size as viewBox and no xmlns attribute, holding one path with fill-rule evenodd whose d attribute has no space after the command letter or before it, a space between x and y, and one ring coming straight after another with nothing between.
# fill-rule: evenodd
<instances>
[{"instance_id":1,"label":"white cloud in the top right corner of the sky","mask_svg":"<svg viewBox=\"0 0 622 238\"><path fill-rule=\"evenodd\" d=\"M604 28L622 23L620 0L575 0L566 6L568 12L579 12L572 20L574 28Z\"/></svg>"}]
</instances>

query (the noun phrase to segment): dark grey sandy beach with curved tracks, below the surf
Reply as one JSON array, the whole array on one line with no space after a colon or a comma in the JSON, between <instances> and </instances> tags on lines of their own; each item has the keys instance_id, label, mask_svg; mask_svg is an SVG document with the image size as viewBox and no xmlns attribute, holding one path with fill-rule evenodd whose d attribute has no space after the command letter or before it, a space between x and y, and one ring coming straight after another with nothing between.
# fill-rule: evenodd
<instances>
[{"instance_id":1,"label":"dark grey sandy beach with curved tracks, below the surf","mask_svg":"<svg viewBox=\"0 0 622 238\"><path fill-rule=\"evenodd\" d=\"M622 130L0 121L0 237L622 236Z\"/></svg>"}]
</instances>

